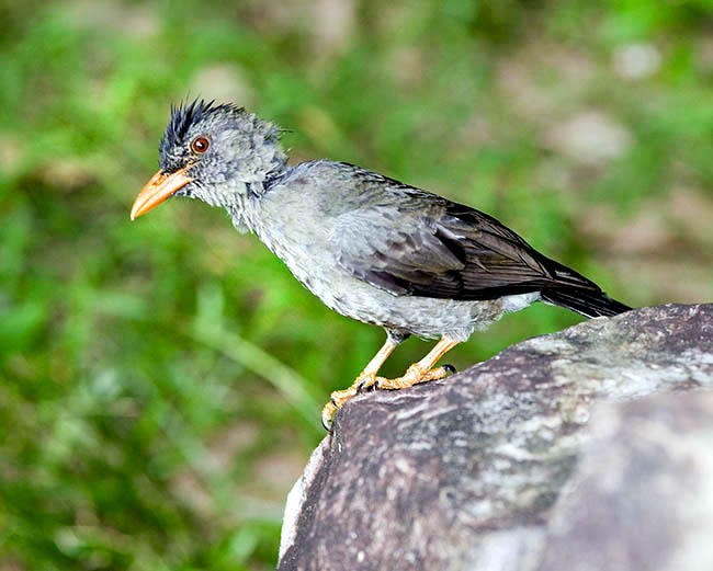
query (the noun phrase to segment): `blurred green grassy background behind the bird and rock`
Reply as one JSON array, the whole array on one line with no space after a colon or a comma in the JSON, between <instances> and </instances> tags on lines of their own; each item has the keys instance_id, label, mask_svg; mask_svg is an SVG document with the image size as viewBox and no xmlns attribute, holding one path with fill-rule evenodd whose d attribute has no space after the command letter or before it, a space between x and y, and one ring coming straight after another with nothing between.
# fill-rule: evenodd
<instances>
[{"instance_id":1,"label":"blurred green grassy background behind the bird and rock","mask_svg":"<svg viewBox=\"0 0 713 571\"><path fill-rule=\"evenodd\" d=\"M170 103L246 105L631 305L705 301L712 31L710 0L0 3L0 571L273 568L319 408L383 341L222 210L129 222Z\"/></svg>"}]
</instances>

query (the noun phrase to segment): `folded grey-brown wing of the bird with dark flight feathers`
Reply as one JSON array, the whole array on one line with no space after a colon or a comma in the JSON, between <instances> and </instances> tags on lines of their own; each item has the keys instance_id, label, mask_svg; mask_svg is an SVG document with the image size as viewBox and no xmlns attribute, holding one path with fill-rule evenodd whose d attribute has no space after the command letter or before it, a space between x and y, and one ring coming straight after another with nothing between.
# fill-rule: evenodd
<instances>
[{"instance_id":1,"label":"folded grey-brown wing of the bird with dark flight feathers","mask_svg":"<svg viewBox=\"0 0 713 571\"><path fill-rule=\"evenodd\" d=\"M495 218L405 185L341 214L335 240L342 269L397 296L476 300L563 285L599 290Z\"/></svg>"}]
</instances>

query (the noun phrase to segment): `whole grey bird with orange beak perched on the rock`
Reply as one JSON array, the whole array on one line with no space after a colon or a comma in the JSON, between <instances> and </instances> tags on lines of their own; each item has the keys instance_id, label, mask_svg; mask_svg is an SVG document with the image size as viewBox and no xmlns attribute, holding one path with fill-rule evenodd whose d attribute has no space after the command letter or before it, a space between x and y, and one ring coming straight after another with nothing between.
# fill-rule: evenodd
<instances>
[{"instance_id":1,"label":"whole grey bird with orange beak perched on the rock","mask_svg":"<svg viewBox=\"0 0 713 571\"><path fill-rule=\"evenodd\" d=\"M223 207L327 307L385 330L352 385L331 393L325 429L360 392L444 378L453 367L435 365L446 352L535 301L587 318L631 309L475 208L348 162L288 164L283 133L233 103L171 105L159 170L131 219L173 196ZM410 335L439 341L403 376L380 377Z\"/></svg>"}]
</instances>

